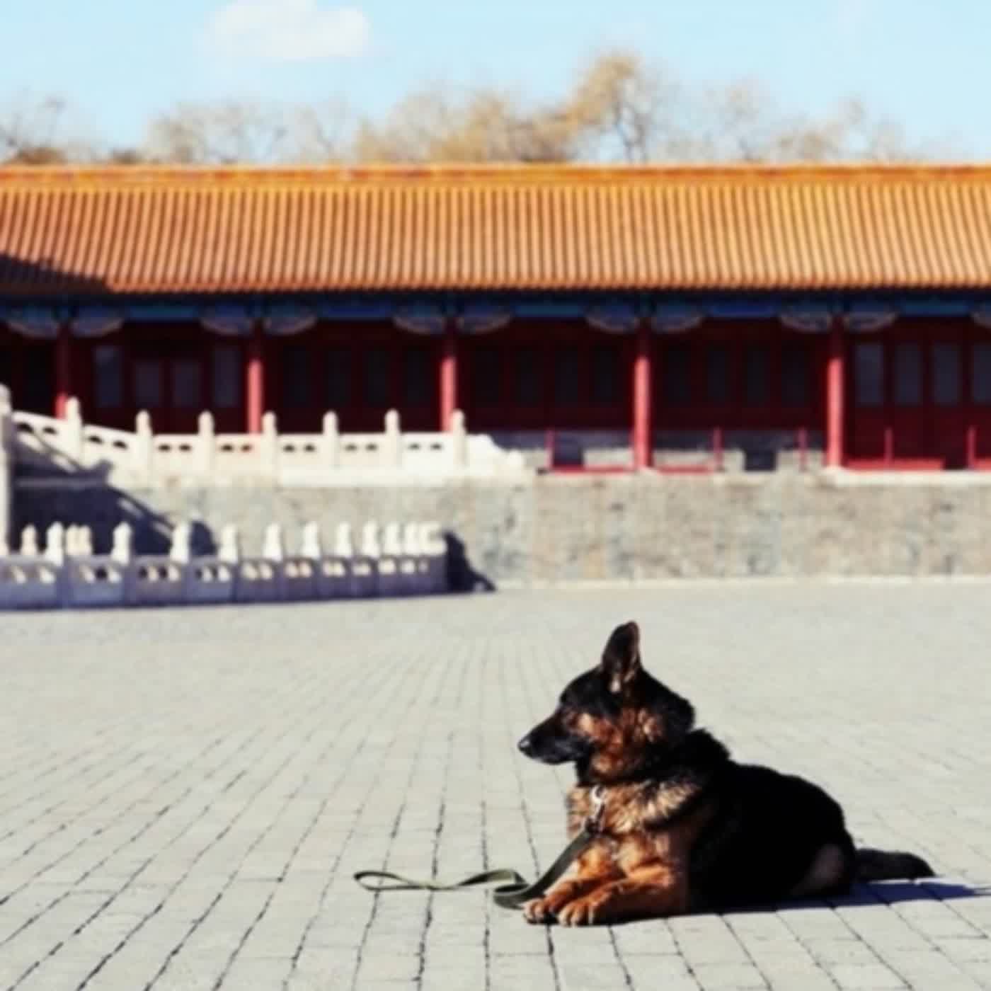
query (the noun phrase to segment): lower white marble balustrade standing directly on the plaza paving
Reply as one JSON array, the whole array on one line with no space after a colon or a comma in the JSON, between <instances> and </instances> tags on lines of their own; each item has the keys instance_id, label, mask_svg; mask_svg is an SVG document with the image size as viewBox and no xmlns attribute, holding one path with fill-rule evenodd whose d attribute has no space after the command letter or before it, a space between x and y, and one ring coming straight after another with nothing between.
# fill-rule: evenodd
<instances>
[{"instance_id":1,"label":"lower white marble balustrade standing directly on the plaza paving","mask_svg":"<svg viewBox=\"0 0 991 991\"><path fill-rule=\"evenodd\" d=\"M96 606L194 606L437 595L448 591L447 543L440 524L369 521L358 541L340 523L333 550L316 523L294 547L283 528L265 529L257 557L241 552L237 527L222 528L216 553L196 556L192 527L172 530L163 555L134 553L128 523L97 553L88 527L53 523L44 545L25 527L14 553L0 555L0 610Z\"/></svg>"}]
</instances>

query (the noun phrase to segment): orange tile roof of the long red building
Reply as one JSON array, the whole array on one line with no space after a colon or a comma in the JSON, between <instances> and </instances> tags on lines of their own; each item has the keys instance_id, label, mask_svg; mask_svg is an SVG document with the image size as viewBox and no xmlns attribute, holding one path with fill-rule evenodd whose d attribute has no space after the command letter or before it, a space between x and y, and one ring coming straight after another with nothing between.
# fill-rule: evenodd
<instances>
[{"instance_id":1,"label":"orange tile roof of the long red building","mask_svg":"<svg viewBox=\"0 0 991 991\"><path fill-rule=\"evenodd\" d=\"M991 166L0 168L0 294L991 287Z\"/></svg>"}]
</instances>

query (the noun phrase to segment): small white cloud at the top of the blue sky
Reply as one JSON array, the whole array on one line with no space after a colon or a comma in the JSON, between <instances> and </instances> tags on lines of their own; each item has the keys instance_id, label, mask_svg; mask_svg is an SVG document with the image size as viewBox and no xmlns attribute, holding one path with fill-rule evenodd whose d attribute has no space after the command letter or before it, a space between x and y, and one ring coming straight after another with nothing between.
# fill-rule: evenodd
<instances>
[{"instance_id":1,"label":"small white cloud at the top of the blue sky","mask_svg":"<svg viewBox=\"0 0 991 991\"><path fill-rule=\"evenodd\" d=\"M324 7L318 0L229 0L207 25L211 47L224 55L272 61L361 55L369 34L357 7Z\"/></svg>"}]
</instances>

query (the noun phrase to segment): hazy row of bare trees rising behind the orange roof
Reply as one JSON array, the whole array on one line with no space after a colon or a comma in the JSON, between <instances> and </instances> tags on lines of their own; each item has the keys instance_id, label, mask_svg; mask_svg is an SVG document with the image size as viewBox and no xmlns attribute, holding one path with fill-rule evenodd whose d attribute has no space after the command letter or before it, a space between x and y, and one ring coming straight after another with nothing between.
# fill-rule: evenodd
<instances>
[{"instance_id":1,"label":"hazy row of bare trees rising behind the orange roof","mask_svg":"<svg viewBox=\"0 0 991 991\"><path fill-rule=\"evenodd\" d=\"M459 91L434 83L383 117L355 121L337 99L301 106L186 103L155 117L143 146L106 148L65 137L57 97L0 106L0 162L97 160L274 164L324 162L836 162L919 159L902 129L848 100L819 117L781 111L754 79L690 86L634 51L596 55L561 98Z\"/></svg>"}]
</instances>

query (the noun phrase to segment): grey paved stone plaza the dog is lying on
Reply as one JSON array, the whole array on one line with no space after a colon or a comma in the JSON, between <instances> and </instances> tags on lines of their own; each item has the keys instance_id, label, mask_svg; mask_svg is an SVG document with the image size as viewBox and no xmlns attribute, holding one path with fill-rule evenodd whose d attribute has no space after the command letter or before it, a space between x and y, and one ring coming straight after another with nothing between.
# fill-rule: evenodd
<instances>
[{"instance_id":1,"label":"grey paved stone plaza the dog is lying on","mask_svg":"<svg viewBox=\"0 0 991 991\"><path fill-rule=\"evenodd\" d=\"M0 988L991 988L991 585L699 584L5 615ZM515 740L616 622L743 759L940 877L611 930L352 873L532 875Z\"/></svg>"}]
</instances>

